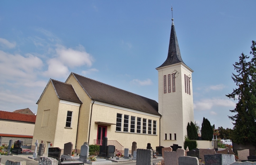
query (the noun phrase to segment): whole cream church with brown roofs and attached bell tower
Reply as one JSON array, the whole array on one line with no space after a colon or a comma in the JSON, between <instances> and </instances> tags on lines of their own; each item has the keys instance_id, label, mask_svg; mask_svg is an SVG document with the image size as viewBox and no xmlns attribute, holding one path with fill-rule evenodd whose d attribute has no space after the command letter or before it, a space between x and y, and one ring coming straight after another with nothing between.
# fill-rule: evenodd
<instances>
[{"instance_id":1,"label":"whole cream church with brown roofs and attached bell tower","mask_svg":"<svg viewBox=\"0 0 256 165\"><path fill-rule=\"evenodd\" d=\"M157 65L157 64L156 64ZM159 99L124 91L99 81L70 73L65 82L50 79L38 102L34 143L64 148L73 143L78 153L84 142L116 149L146 149L147 143L183 148L187 124L194 122L192 72L182 60L172 19L167 59L156 68Z\"/></svg>"}]
</instances>

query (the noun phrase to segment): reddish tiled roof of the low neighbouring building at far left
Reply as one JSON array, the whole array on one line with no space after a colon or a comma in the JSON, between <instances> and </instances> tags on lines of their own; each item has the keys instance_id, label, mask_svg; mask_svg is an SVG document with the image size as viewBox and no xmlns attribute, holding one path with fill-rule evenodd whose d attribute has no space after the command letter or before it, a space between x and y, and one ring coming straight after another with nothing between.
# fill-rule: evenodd
<instances>
[{"instance_id":1,"label":"reddish tiled roof of the low neighbouring building at far left","mask_svg":"<svg viewBox=\"0 0 256 165\"><path fill-rule=\"evenodd\" d=\"M0 110L0 119L35 123L36 116Z\"/></svg>"}]
</instances>

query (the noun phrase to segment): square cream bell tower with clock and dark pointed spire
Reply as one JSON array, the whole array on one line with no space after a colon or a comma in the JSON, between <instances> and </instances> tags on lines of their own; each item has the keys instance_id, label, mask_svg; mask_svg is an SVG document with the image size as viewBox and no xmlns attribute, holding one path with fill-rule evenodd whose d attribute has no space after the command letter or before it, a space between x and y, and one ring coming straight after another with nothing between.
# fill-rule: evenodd
<instances>
[{"instance_id":1,"label":"square cream bell tower with clock and dark pointed spire","mask_svg":"<svg viewBox=\"0 0 256 165\"><path fill-rule=\"evenodd\" d=\"M173 9L171 9L173 10ZM158 71L158 109L160 119L160 145L182 146L187 135L187 125L194 122L193 88L191 70L182 60L173 23L169 50Z\"/></svg>"}]
</instances>

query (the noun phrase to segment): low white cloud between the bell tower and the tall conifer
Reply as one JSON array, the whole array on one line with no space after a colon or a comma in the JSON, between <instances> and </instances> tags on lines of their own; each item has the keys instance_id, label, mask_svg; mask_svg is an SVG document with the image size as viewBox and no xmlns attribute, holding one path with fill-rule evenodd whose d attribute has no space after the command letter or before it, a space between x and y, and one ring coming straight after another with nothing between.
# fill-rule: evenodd
<instances>
[{"instance_id":1,"label":"low white cloud between the bell tower and the tall conifer","mask_svg":"<svg viewBox=\"0 0 256 165\"><path fill-rule=\"evenodd\" d=\"M195 110L208 110L213 106L235 107L236 103L227 99L202 99L194 103Z\"/></svg>"}]
</instances>

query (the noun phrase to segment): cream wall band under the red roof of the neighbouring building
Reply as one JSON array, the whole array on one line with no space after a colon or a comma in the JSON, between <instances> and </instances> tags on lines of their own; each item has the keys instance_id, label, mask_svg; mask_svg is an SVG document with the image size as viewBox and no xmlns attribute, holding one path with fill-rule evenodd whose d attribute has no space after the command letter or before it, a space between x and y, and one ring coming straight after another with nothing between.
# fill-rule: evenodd
<instances>
[{"instance_id":1,"label":"cream wall band under the red roof of the neighbouring building","mask_svg":"<svg viewBox=\"0 0 256 165\"><path fill-rule=\"evenodd\" d=\"M33 136L35 124L23 122L11 122L0 120L1 134L29 135Z\"/></svg>"}]
</instances>

